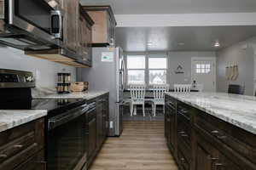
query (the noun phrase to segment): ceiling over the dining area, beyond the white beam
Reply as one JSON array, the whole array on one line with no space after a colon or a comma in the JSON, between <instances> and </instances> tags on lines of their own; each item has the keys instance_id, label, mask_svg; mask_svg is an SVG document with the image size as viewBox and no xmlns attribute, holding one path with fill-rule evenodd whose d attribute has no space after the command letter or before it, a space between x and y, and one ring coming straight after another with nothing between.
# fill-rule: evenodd
<instances>
[{"instance_id":1,"label":"ceiling over the dining area, beyond the white beam","mask_svg":"<svg viewBox=\"0 0 256 170\"><path fill-rule=\"evenodd\" d=\"M218 51L250 37L256 26L118 27L116 43L125 51ZM220 43L219 48L214 43ZM148 46L148 42L152 42ZM179 44L184 43L184 44Z\"/></svg>"}]
</instances>

